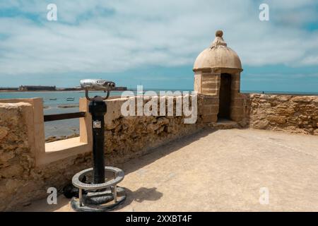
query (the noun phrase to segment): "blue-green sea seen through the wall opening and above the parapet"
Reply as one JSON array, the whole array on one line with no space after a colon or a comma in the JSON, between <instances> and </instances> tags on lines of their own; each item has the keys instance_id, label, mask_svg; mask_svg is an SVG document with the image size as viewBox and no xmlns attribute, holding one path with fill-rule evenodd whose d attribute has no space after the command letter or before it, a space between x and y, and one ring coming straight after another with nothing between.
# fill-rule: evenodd
<instances>
[{"instance_id":1,"label":"blue-green sea seen through the wall opening and above the parapet","mask_svg":"<svg viewBox=\"0 0 318 226\"><path fill-rule=\"evenodd\" d=\"M176 90L163 90L151 89L158 93L161 91L176 91ZM136 90L132 90L135 94ZM146 91L146 90L144 90ZM191 91L191 90L179 90ZM318 95L318 93L305 93L305 92L273 92L273 91L259 91L259 90L241 90L241 93L272 93L272 94L290 94L290 95ZM102 92L92 92L91 95L105 95ZM122 91L112 91L110 96L120 96ZM44 114L61 114L78 112L78 102L80 97L85 97L84 91L46 91L46 92L0 92L0 99L17 99L17 98L33 98L40 97L43 99ZM68 101L68 97L73 97L73 101ZM72 107L61 108L61 105L69 105ZM79 133L79 119L64 119L59 121L45 122L45 137L51 136L71 136Z\"/></svg>"}]
</instances>

